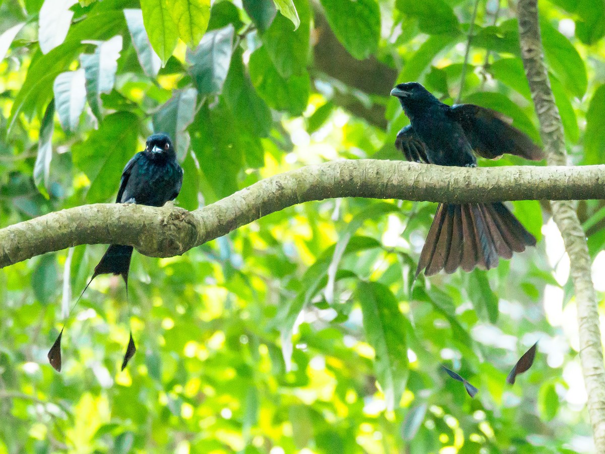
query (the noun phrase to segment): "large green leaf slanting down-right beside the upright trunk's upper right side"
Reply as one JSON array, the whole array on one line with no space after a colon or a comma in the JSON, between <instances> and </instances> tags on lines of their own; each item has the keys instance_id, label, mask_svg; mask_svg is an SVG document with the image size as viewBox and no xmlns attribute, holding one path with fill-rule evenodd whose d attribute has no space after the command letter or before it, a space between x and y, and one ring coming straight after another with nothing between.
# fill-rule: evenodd
<instances>
[{"instance_id":1,"label":"large green leaf slanting down-right beside the upright trunk's upper right side","mask_svg":"<svg viewBox=\"0 0 605 454\"><path fill-rule=\"evenodd\" d=\"M548 65L565 90L580 99L588 85L586 66L569 39L561 35L549 21L541 20L540 28Z\"/></svg>"}]
</instances>

